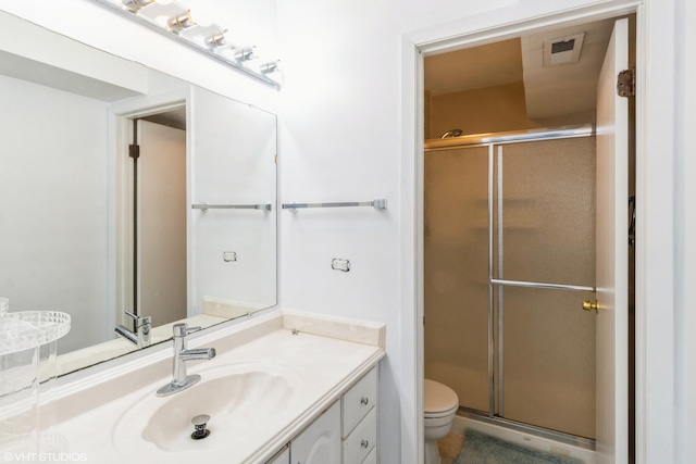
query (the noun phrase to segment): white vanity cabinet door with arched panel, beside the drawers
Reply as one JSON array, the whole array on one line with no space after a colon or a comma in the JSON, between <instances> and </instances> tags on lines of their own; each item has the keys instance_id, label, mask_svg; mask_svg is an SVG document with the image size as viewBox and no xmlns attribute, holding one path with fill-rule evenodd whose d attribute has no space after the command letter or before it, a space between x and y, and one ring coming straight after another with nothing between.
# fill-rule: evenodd
<instances>
[{"instance_id":1,"label":"white vanity cabinet door with arched panel, beside the drawers","mask_svg":"<svg viewBox=\"0 0 696 464\"><path fill-rule=\"evenodd\" d=\"M336 401L290 444L291 464L340 464L340 404Z\"/></svg>"}]
</instances>

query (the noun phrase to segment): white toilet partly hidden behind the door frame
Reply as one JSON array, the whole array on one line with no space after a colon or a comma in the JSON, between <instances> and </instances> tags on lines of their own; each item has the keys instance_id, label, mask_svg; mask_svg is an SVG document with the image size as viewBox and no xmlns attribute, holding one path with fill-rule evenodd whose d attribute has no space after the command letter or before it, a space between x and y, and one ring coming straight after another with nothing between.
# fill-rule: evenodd
<instances>
[{"instance_id":1,"label":"white toilet partly hidden behind the door frame","mask_svg":"<svg viewBox=\"0 0 696 464\"><path fill-rule=\"evenodd\" d=\"M437 440L449 434L458 407L459 398L455 390L435 380L424 380L425 464L440 463Z\"/></svg>"}]
</instances>

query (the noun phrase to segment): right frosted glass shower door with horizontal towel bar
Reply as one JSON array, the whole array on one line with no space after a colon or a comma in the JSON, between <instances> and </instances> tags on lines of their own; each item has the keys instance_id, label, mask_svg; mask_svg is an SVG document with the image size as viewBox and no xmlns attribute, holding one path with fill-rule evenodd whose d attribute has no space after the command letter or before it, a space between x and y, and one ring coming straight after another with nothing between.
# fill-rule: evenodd
<instances>
[{"instance_id":1,"label":"right frosted glass shower door with horizontal towel bar","mask_svg":"<svg viewBox=\"0 0 696 464\"><path fill-rule=\"evenodd\" d=\"M595 139L495 148L496 414L595 437ZM557 288L549 287L557 286ZM574 289L573 289L574 288Z\"/></svg>"}]
</instances>

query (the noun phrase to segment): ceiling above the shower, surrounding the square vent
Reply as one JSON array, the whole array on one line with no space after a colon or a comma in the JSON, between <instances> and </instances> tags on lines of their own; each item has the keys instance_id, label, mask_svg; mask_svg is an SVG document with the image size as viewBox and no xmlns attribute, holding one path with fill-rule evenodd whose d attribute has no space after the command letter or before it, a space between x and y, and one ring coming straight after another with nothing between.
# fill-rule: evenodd
<instances>
[{"instance_id":1,"label":"ceiling above the shower, surrounding the square vent","mask_svg":"<svg viewBox=\"0 0 696 464\"><path fill-rule=\"evenodd\" d=\"M545 30L425 59L432 96L523 80L527 117L547 118L595 110L596 85L616 20ZM576 63L544 67L544 41L585 33Z\"/></svg>"}]
</instances>

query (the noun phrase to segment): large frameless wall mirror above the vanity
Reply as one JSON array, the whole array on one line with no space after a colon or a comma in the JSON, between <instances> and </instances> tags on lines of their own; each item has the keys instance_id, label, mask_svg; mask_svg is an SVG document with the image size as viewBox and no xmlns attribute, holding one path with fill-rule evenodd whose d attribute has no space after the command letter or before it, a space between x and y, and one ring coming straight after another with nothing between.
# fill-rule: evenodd
<instances>
[{"instance_id":1,"label":"large frameless wall mirror above the vanity","mask_svg":"<svg viewBox=\"0 0 696 464\"><path fill-rule=\"evenodd\" d=\"M4 12L0 27L0 296L71 314L61 373L137 349L114 331L126 311L157 343L275 305L275 115Z\"/></svg>"}]
</instances>

